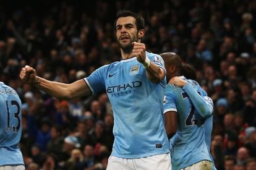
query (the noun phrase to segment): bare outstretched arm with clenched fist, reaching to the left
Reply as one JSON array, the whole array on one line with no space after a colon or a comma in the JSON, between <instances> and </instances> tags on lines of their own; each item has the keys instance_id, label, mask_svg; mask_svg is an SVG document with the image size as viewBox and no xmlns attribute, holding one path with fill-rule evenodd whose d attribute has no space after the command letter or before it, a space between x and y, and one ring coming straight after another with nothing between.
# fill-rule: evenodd
<instances>
[{"instance_id":1,"label":"bare outstretched arm with clenched fist, reaching to the left","mask_svg":"<svg viewBox=\"0 0 256 170\"><path fill-rule=\"evenodd\" d=\"M36 70L30 66L22 68L20 79L25 83L30 83L36 88L45 91L48 95L65 100L87 96L92 93L87 83L82 79L70 84L52 82L36 76Z\"/></svg>"}]
</instances>

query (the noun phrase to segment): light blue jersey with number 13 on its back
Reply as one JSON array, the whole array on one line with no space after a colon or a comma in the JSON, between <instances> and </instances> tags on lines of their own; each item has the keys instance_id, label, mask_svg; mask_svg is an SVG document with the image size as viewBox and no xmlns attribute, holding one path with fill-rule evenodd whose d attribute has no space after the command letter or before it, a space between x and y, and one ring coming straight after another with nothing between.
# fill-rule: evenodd
<instances>
[{"instance_id":1,"label":"light blue jersey with number 13 on its back","mask_svg":"<svg viewBox=\"0 0 256 170\"><path fill-rule=\"evenodd\" d=\"M24 164L18 147L22 134L20 106L16 91L0 82L0 166Z\"/></svg>"}]
</instances>

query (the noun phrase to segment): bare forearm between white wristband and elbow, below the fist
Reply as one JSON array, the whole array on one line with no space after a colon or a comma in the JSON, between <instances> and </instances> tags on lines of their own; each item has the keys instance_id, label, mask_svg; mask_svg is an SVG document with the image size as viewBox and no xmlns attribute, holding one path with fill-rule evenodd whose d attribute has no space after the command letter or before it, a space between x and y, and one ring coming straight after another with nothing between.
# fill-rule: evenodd
<instances>
[{"instance_id":1,"label":"bare forearm between white wristband and elbow, below the fist","mask_svg":"<svg viewBox=\"0 0 256 170\"><path fill-rule=\"evenodd\" d=\"M165 72L164 70L157 66L155 63L150 61L150 66L148 66L146 69L146 74L148 80L154 83L161 82L161 80L164 79Z\"/></svg>"}]
</instances>

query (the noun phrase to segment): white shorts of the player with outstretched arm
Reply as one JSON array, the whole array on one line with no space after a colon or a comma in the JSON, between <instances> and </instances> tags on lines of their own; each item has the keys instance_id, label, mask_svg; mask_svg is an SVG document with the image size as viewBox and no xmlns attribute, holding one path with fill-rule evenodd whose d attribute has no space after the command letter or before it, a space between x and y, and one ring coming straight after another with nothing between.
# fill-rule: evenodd
<instances>
[{"instance_id":1,"label":"white shorts of the player with outstretched arm","mask_svg":"<svg viewBox=\"0 0 256 170\"><path fill-rule=\"evenodd\" d=\"M144 158L125 159L109 156L106 170L171 170L169 153Z\"/></svg>"}]
</instances>

